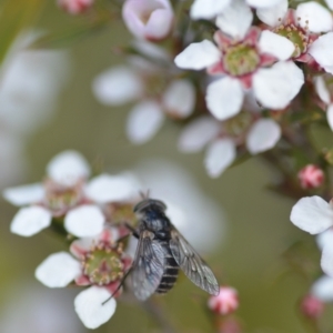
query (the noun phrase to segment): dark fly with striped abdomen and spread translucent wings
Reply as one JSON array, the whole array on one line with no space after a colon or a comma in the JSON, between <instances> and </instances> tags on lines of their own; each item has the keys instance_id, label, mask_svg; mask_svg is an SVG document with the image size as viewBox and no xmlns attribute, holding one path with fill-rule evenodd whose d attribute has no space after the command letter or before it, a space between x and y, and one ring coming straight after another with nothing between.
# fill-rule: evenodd
<instances>
[{"instance_id":1,"label":"dark fly with striped abdomen and spread translucent wings","mask_svg":"<svg viewBox=\"0 0 333 333\"><path fill-rule=\"evenodd\" d=\"M219 283L211 269L173 226L165 215L167 205L145 198L133 211L139 228L131 228L139 239L132 271L135 296L144 301L153 293L164 294L174 285L179 270L199 287L219 294Z\"/></svg>"}]
</instances>

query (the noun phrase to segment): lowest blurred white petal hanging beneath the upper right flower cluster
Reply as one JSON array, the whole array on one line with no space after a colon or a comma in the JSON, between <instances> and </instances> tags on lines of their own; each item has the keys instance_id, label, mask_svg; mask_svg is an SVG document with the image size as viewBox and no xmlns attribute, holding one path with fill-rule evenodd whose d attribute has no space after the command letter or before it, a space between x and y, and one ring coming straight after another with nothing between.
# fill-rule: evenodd
<instances>
[{"instance_id":1,"label":"lowest blurred white petal hanging beneath the upper right flower cluster","mask_svg":"<svg viewBox=\"0 0 333 333\"><path fill-rule=\"evenodd\" d=\"M211 178L219 176L232 164L236 157L234 142L231 139L214 141L206 150L204 165Z\"/></svg>"}]
</instances>

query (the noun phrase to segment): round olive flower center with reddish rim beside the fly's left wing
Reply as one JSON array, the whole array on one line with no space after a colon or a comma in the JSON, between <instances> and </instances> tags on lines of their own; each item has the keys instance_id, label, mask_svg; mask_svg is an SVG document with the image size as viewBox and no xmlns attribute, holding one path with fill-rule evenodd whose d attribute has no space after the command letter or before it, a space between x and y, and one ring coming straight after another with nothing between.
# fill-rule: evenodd
<instances>
[{"instance_id":1,"label":"round olive flower center with reddish rim beside the fly's left wing","mask_svg":"<svg viewBox=\"0 0 333 333\"><path fill-rule=\"evenodd\" d=\"M111 248L110 244L99 244L85 255L82 268L84 275L93 284L104 285L123 276L124 264L121 260L122 246Z\"/></svg>"}]
</instances>

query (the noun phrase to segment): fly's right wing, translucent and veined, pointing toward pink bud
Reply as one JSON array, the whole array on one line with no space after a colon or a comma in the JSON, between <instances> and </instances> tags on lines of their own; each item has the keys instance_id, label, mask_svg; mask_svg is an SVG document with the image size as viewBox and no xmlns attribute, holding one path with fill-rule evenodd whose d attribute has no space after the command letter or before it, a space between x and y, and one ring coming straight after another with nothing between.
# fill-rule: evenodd
<instances>
[{"instance_id":1,"label":"fly's right wing, translucent and veined, pointing toward pink bud","mask_svg":"<svg viewBox=\"0 0 333 333\"><path fill-rule=\"evenodd\" d=\"M179 266L195 285L212 295L219 294L214 273L175 229L171 231L170 249Z\"/></svg>"}]
</instances>

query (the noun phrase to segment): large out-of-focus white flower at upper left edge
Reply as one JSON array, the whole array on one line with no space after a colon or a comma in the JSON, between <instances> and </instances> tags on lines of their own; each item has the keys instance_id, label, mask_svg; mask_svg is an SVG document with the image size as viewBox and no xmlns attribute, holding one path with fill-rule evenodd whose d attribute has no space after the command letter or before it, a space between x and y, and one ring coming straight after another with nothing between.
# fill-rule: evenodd
<instances>
[{"instance_id":1,"label":"large out-of-focus white flower at upper left edge","mask_svg":"<svg viewBox=\"0 0 333 333\"><path fill-rule=\"evenodd\" d=\"M36 37L20 36L1 67L0 122L21 135L51 119L69 73L65 52L28 50Z\"/></svg>"}]
</instances>

